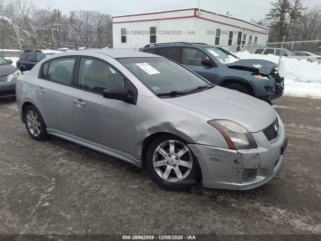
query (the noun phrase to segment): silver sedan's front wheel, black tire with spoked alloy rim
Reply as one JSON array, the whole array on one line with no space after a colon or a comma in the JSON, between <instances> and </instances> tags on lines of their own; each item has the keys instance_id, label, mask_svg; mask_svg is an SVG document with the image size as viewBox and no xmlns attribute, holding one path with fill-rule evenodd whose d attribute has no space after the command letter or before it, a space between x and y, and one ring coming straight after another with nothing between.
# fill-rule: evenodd
<instances>
[{"instance_id":1,"label":"silver sedan's front wheel, black tire with spoked alloy rim","mask_svg":"<svg viewBox=\"0 0 321 241\"><path fill-rule=\"evenodd\" d=\"M173 143L174 148L172 150L174 150L174 152L171 152L170 145L172 145ZM186 144L187 143L181 138L173 135L164 135L156 138L149 145L146 153L146 168L151 179L159 186L162 186L169 190L182 190L192 186L199 180L199 164L194 154L190 149L188 149ZM159 146L165 148L163 150L167 152L165 154L167 155L166 158L164 157L164 155L156 152L156 149ZM184 153L185 151L186 153L184 153L183 155L178 155L180 153L180 150L183 149L184 151L182 151L182 153ZM154 167L154 163L161 163L162 166ZM191 163L189 164L190 167L186 166L186 164L188 163ZM181 164L184 164L185 166ZM162 178L162 173L166 175L165 173L167 169L170 170L168 178ZM178 178L177 173L182 174L181 178Z\"/></svg>"}]
</instances>

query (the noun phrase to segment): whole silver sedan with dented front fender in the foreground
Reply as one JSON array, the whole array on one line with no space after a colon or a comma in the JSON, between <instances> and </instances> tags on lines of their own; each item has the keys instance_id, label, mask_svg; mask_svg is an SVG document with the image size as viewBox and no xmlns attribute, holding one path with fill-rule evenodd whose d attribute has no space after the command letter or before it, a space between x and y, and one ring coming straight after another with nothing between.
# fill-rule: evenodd
<instances>
[{"instance_id":1,"label":"whole silver sedan with dented front fender in the foreground","mask_svg":"<svg viewBox=\"0 0 321 241\"><path fill-rule=\"evenodd\" d=\"M30 136L61 137L146 168L164 188L250 189L280 170L287 144L266 102L215 86L164 57L56 54L17 80Z\"/></svg>"}]
</instances>

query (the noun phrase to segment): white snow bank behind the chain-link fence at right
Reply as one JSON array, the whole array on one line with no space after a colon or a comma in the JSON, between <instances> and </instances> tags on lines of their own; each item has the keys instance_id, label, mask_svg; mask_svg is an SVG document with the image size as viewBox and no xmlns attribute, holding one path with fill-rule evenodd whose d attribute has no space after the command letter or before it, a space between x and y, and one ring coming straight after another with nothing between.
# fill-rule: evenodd
<instances>
[{"instance_id":1,"label":"white snow bank behind the chain-link fence at right","mask_svg":"<svg viewBox=\"0 0 321 241\"><path fill-rule=\"evenodd\" d=\"M272 54L251 54L248 51L233 54L240 59L265 59L276 64L279 63L279 56ZM294 80L294 82L321 83L321 64L318 64L317 62L308 62L306 59L298 60L285 56L281 57L279 73L285 78Z\"/></svg>"}]
</instances>

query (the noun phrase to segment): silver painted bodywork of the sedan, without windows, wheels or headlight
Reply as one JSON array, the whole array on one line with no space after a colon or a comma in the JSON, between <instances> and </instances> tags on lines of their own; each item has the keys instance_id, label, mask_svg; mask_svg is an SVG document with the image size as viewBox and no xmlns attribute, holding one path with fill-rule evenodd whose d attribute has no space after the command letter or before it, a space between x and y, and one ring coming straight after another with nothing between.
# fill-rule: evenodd
<instances>
[{"instance_id":1,"label":"silver painted bodywork of the sedan, without windows, wheels or headlight","mask_svg":"<svg viewBox=\"0 0 321 241\"><path fill-rule=\"evenodd\" d=\"M43 62L60 56L77 55L102 59L118 69L136 87L136 105L38 79ZM18 78L17 104L21 115L23 104L31 102L39 109L50 135L138 167L142 166L143 143L147 137L158 133L176 135L189 143L188 147L197 157L205 187L249 189L262 185L277 173L282 162L281 146L285 130L279 118L280 135L277 139L269 142L262 133L278 116L269 104L219 86L186 96L158 98L114 59L121 57L162 58L122 50L75 51L47 57L28 74ZM47 93L52 96L42 99ZM55 103L56 98L61 99L60 102ZM85 105L79 105L74 100ZM64 115L62 118L59 117L61 113ZM219 131L207 123L212 119L229 119L242 125L252 134L258 147L230 150ZM247 170L252 169L257 170L257 177L246 181L244 176Z\"/></svg>"}]
</instances>

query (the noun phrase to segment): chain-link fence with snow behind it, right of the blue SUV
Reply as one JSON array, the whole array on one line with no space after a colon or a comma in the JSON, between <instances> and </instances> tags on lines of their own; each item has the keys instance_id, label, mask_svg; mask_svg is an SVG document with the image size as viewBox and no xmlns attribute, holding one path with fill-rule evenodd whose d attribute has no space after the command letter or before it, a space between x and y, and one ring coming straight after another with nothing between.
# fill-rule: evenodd
<instances>
[{"instance_id":1,"label":"chain-link fence with snow behind it, right of the blue SUV","mask_svg":"<svg viewBox=\"0 0 321 241\"><path fill-rule=\"evenodd\" d=\"M321 41L221 46L240 59L265 59L279 65L281 76L321 83Z\"/></svg>"}]
</instances>

